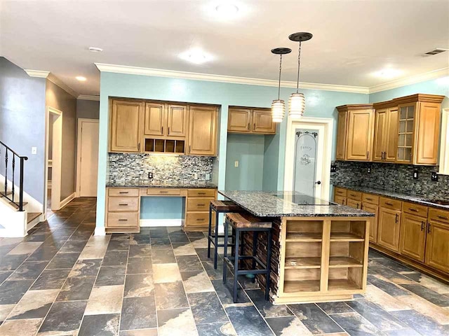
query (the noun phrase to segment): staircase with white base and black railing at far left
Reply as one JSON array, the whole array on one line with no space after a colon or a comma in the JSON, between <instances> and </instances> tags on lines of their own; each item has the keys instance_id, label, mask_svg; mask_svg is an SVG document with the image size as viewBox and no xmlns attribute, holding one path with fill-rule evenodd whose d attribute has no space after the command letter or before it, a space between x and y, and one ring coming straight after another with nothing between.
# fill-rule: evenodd
<instances>
[{"instance_id":1,"label":"staircase with white base and black railing at far left","mask_svg":"<svg viewBox=\"0 0 449 336\"><path fill-rule=\"evenodd\" d=\"M39 223L43 207L23 189L26 160L0 141L0 237L25 237Z\"/></svg>"}]
</instances>

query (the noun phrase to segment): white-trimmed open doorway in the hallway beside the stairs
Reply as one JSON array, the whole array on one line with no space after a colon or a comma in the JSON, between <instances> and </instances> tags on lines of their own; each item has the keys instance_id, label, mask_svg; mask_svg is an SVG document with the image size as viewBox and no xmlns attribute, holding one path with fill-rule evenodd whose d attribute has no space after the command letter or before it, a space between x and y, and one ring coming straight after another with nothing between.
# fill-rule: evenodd
<instances>
[{"instance_id":1,"label":"white-trimmed open doorway in the hallway beside the stairs","mask_svg":"<svg viewBox=\"0 0 449 336\"><path fill-rule=\"evenodd\" d=\"M61 157L62 157L62 111L48 106L45 118L45 188L44 220L60 209ZM51 179L49 189L48 179Z\"/></svg>"}]
</instances>

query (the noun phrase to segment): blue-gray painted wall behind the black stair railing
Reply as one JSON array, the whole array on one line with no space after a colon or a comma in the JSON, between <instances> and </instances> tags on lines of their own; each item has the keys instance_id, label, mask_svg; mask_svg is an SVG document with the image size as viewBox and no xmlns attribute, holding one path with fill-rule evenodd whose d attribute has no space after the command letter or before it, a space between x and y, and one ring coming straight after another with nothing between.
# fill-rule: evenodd
<instances>
[{"instance_id":1,"label":"blue-gray painted wall behind the black stair railing","mask_svg":"<svg viewBox=\"0 0 449 336\"><path fill-rule=\"evenodd\" d=\"M45 78L29 77L20 67L0 57L0 141L28 157L24 190L41 203L45 167L45 90ZM31 154L32 146L37 147L36 155ZM0 158L0 174L4 175L3 148ZM18 174L15 178L18 181Z\"/></svg>"}]
</instances>

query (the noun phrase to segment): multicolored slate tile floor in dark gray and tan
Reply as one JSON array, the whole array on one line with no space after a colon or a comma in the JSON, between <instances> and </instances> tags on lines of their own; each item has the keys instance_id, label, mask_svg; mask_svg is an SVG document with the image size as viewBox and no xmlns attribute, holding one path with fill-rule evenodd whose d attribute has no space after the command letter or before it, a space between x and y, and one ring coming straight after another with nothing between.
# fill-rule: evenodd
<instances>
[{"instance_id":1,"label":"multicolored slate tile floor in dark gray and tan","mask_svg":"<svg viewBox=\"0 0 449 336\"><path fill-rule=\"evenodd\" d=\"M366 293L276 305L213 269L202 232L93 236L95 199L0 239L0 335L449 335L449 286L370 250Z\"/></svg>"}]
</instances>

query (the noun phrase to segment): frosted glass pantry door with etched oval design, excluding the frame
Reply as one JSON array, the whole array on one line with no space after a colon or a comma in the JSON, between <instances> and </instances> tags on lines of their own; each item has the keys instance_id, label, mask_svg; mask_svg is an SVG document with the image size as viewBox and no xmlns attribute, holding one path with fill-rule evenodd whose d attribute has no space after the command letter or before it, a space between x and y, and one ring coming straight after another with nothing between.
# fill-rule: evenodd
<instances>
[{"instance_id":1,"label":"frosted glass pantry door with etched oval design, excluding the frame","mask_svg":"<svg viewBox=\"0 0 449 336\"><path fill-rule=\"evenodd\" d=\"M316 164L319 130L295 130L295 167L293 190L311 197L316 192ZM321 183L321 182L319 182Z\"/></svg>"}]
</instances>

